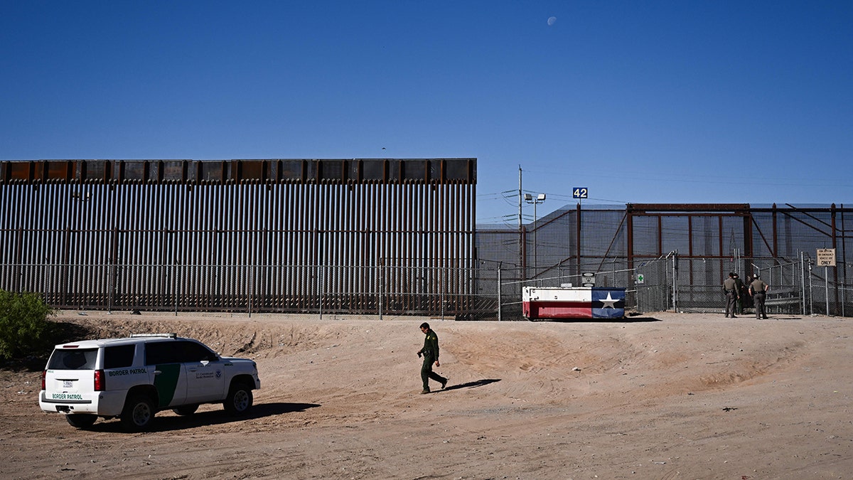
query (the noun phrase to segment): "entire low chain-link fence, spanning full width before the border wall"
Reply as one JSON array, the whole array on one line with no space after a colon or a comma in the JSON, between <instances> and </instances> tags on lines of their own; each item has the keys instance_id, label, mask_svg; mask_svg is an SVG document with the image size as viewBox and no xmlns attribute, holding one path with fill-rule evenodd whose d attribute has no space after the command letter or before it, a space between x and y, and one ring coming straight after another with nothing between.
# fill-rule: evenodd
<instances>
[{"instance_id":1,"label":"entire low chain-link fence, spanning full width before the border wall","mask_svg":"<svg viewBox=\"0 0 853 480\"><path fill-rule=\"evenodd\" d=\"M736 272L748 287L753 272L770 285L769 314L853 313L850 286L833 268L799 260L683 258L670 252L634 269L618 268L519 279L514 266L475 268L400 266L12 265L26 284L4 290L42 292L58 308L426 315L452 319L519 320L525 286L626 289L628 313L723 313L722 279ZM589 268L592 270L592 268ZM828 279L827 279L828 274ZM7 277L14 277L8 275ZM741 296L740 312L752 313Z\"/></svg>"}]
</instances>

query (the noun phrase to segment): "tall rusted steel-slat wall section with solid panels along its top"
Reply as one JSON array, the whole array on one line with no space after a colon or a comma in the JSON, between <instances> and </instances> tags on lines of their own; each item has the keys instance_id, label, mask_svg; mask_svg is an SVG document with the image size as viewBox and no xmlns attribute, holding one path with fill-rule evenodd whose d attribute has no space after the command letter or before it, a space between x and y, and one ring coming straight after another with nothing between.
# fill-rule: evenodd
<instances>
[{"instance_id":1,"label":"tall rusted steel-slat wall section with solid panels along its top","mask_svg":"<svg viewBox=\"0 0 853 480\"><path fill-rule=\"evenodd\" d=\"M55 307L461 312L475 185L475 159L3 161L0 288Z\"/></svg>"}]
</instances>

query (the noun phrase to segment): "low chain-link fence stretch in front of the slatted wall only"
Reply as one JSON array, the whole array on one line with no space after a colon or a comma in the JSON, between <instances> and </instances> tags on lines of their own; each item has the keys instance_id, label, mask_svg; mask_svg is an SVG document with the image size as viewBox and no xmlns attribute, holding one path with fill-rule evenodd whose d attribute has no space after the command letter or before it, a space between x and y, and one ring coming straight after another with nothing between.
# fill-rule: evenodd
<instances>
[{"instance_id":1,"label":"low chain-link fence stretch in front of the slatted wall only","mask_svg":"<svg viewBox=\"0 0 853 480\"><path fill-rule=\"evenodd\" d=\"M4 290L35 291L57 308L448 316L496 312L496 285L469 268L24 264L3 266ZM488 316L488 315L487 315Z\"/></svg>"}]
</instances>

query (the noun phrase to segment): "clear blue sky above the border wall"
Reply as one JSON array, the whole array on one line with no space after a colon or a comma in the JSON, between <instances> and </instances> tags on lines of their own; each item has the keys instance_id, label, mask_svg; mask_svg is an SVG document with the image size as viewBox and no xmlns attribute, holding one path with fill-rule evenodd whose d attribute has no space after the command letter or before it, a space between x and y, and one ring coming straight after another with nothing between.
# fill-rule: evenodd
<instances>
[{"instance_id":1,"label":"clear blue sky above the border wall","mask_svg":"<svg viewBox=\"0 0 853 480\"><path fill-rule=\"evenodd\" d=\"M519 167L540 217L849 206L853 2L0 0L0 159L386 157L476 157L479 223Z\"/></svg>"}]
</instances>

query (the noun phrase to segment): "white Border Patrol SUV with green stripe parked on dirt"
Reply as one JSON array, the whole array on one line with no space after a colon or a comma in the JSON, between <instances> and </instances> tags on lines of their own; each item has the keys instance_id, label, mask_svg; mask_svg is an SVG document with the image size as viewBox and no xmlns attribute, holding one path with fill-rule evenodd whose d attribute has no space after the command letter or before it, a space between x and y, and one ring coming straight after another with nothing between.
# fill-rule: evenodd
<instances>
[{"instance_id":1,"label":"white Border Patrol SUV with green stripe parked on dirt","mask_svg":"<svg viewBox=\"0 0 853 480\"><path fill-rule=\"evenodd\" d=\"M189 415L201 403L221 402L227 413L247 413L260 387L253 360L220 357L174 333L131 335L56 345L38 406L65 413L77 428L119 417L125 430L140 431L170 408Z\"/></svg>"}]
</instances>

